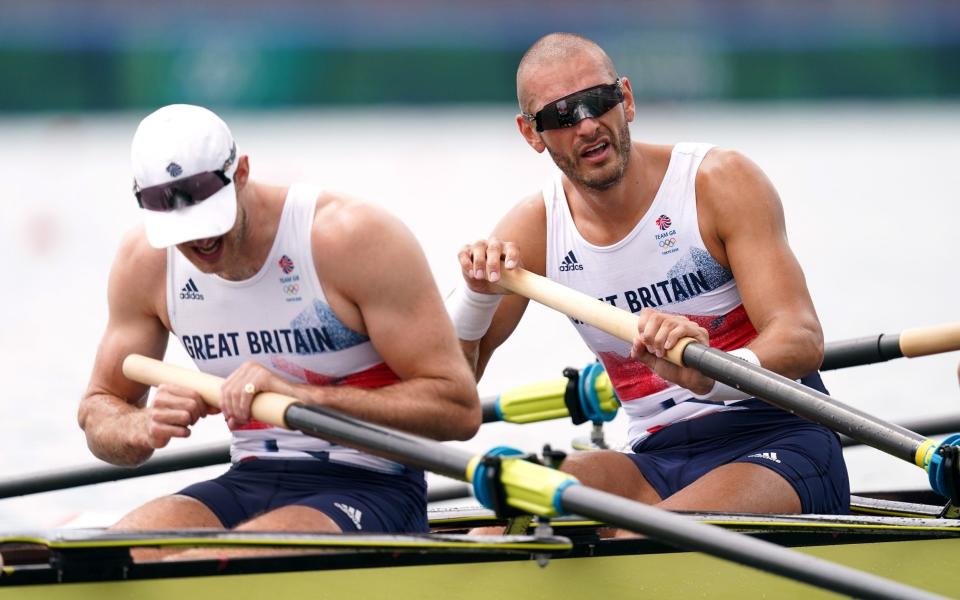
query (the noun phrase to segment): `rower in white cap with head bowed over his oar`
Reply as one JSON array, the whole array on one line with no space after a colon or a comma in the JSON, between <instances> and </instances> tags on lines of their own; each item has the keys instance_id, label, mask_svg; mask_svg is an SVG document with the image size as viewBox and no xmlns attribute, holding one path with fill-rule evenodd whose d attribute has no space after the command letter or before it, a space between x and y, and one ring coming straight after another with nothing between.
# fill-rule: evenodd
<instances>
[{"instance_id":1,"label":"rower in white cap with head bowed over his oar","mask_svg":"<svg viewBox=\"0 0 960 600\"><path fill-rule=\"evenodd\" d=\"M147 116L132 160L143 227L113 265L80 425L118 465L189 437L210 413L197 393L162 385L148 406L120 371L128 354L162 357L172 333L197 368L226 378L233 465L115 527L426 531L421 470L250 414L255 394L279 392L436 439L477 431L476 386L409 230L341 194L254 181L227 125L201 107Z\"/></svg>"}]
</instances>

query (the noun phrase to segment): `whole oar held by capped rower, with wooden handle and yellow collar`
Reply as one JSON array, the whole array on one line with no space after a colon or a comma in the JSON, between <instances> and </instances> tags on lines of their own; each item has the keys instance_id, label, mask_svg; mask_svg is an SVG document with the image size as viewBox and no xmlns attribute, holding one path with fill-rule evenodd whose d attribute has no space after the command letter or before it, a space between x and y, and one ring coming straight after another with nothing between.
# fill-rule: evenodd
<instances>
[{"instance_id":1,"label":"whole oar held by capped rower, with wooden handle and yellow collar","mask_svg":"<svg viewBox=\"0 0 960 600\"><path fill-rule=\"evenodd\" d=\"M219 405L223 380L188 371L143 356L124 361L124 374L148 385L175 383L195 389L204 400ZM261 399L268 399L261 403ZM939 598L928 592L870 573L800 554L718 527L697 523L664 510L631 502L619 496L580 485L576 479L517 458L517 450L494 449L480 456L396 431L364 423L322 407L305 406L294 398L261 393L254 399L254 416L266 423L297 429L308 435L342 443L366 452L391 456L405 464L423 467L455 479L474 482L490 496L485 486L500 486L510 506L541 516L575 512L617 527L637 531L680 548L704 552L859 598ZM259 404L259 408L258 408ZM279 415L279 418L277 416ZM484 477L484 473L496 475Z\"/></svg>"}]
</instances>

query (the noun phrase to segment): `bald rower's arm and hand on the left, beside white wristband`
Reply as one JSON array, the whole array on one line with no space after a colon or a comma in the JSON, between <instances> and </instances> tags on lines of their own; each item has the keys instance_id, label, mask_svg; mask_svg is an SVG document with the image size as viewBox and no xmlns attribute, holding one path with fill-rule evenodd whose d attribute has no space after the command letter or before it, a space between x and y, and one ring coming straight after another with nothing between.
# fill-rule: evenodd
<instances>
[{"instance_id":1,"label":"bald rower's arm and hand on the left, beside white wristband","mask_svg":"<svg viewBox=\"0 0 960 600\"><path fill-rule=\"evenodd\" d=\"M510 242L515 245L519 253L522 266L538 275L546 272L547 248L547 216L540 193L525 198L508 212L493 230L490 239ZM469 269L464 266L464 277L471 289L481 293L503 293L503 289L490 282L490 274L496 273L499 278L501 269L500 255L497 252L486 251L486 240L477 242L464 250L468 250L469 259L473 261L474 270L483 271L483 279L467 278ZM508 257L509 258L509 257ZM460 340L461 348L467 357L467 362L474 367L476 378L479 381L490 361L490 356L500 344L505 342L513 330L517 328L529 301L523 296L508 294L504 296L493 317L487 333L479 340Z\"/></svg>"}]
</instances>

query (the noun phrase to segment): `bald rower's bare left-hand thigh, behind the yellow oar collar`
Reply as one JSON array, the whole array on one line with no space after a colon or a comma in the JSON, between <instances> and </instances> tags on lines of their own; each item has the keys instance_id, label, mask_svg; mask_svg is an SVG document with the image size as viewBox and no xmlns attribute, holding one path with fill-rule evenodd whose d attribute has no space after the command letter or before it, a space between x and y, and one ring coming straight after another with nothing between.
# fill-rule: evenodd
<instances>
[{"instance_id":1,"label":"bald rower's bare left-hand thigh, behind the yellow oar collar","mask_svg":"<svg viewBox=\"0 0 960 600\"><path fill-rule=\"evenodd\" d=\"M646 504L660 501L660 495L647 482L639 467L622 452L594 450L571 454L560 470L580 483Z\"/></svg>"}]
</instances>

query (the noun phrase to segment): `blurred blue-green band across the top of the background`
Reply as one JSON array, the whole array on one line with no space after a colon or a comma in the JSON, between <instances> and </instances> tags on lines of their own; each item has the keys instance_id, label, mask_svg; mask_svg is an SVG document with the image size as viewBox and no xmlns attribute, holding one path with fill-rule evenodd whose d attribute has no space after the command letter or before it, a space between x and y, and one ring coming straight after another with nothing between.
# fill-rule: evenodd
<instances>
[{"instance_id":1,"label":"blurred blue-green band across the top of the background","mask_svg":"<svg viewBox=\"0 0 960 600\"><path fill-rule=\"evenodd\" d=\"M436 0L0 3L0 111L514 101L551 31L641 100L953 100L960 3Z\"/></svg>"}]
</instances>

